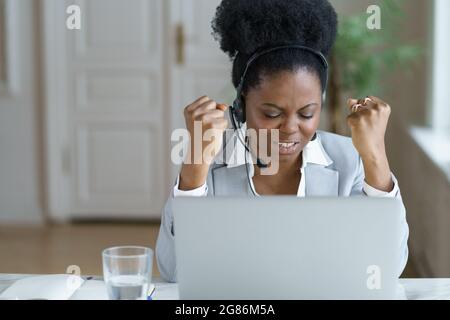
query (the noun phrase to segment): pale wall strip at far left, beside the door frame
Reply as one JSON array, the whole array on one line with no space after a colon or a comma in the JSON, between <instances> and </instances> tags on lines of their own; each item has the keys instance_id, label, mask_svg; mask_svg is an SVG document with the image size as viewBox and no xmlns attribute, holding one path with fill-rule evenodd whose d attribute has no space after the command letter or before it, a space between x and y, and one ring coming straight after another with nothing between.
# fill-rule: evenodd
<instances>
[{"instance_id":1,"label":"pale wall strip at far left, beside the door frame","mask_svg":"<svg viewBox=\"0 0 450 320\"><path fill-rule=\"evenodd\" d=\"M41 121L36 88L36 1L9 0L12 92L0 95L0 223L39 223ZM11 58L11 56L10 56Z\"/></svg>"}]
</instances>

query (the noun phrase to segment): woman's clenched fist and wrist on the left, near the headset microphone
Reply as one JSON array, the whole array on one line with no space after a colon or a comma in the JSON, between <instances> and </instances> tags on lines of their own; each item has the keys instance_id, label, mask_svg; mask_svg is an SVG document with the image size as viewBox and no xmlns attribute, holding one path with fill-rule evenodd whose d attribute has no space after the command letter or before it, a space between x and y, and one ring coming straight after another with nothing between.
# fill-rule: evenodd
<instances>
[{"instance_id":1,"label":"woman's clenched fist and wrist on the left, near the headset microphone","mask_svg":"<svg viewBox=\"0 0 450 320\"><path fill-rule=\"evenodd\" d=\"M207 96L203 96L186 108L184 108L184 118L186 128L190 134L189 152L190 158L185 159L180 173L178 188L180 190L193 190L205 184L208 177L209 166L221 149L223 132L228 127L228 120L225 116L227 106L218 104ZM201 128L201 133L195 134L195 130ZM213 138L208 141L203 140L203 136L208 130ZM208 137L209 138L209 137ZM195 142L194 139L201 139ZM201 150L195 150L194 146ZM208 152L207 159L204 157L204 151Z\"/></svg>"}]
</instances>

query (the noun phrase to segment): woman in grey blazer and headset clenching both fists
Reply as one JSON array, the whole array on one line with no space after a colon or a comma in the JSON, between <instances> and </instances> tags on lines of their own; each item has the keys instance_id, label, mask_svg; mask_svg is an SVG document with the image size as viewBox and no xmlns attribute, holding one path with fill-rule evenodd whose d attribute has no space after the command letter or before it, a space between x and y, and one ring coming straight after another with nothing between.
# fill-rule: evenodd
<instances>
[{"instance_id":1,"label":"woman in grey blazer and headset clenching both fists","mask_svg":"<svg viewBox=\"0 0 450 320\"><path fill-rule=\"evenodd\" d=\"M213 30L221 49L233 61L232 82L240 99L233 106L233 124L240 127L245 122L247 129L257 132L278 130L278 171L263 174L270 165L259 158L254 165L252 158L259 150L251 150L242 139L235 152L252 155L244 162L227 163L225 159L225 163L209 165L185 161L164 208L156 246L161 276L171 282L176 281L174 197L401 197L384 144L391 112L387 103L374 96L349 99L351 139L317 130L327 82L325 57L337 31L336 13L327 0L260 0L257 5L249 0L223 0ZM239 108L241 113L236 112ZM194 121L201 121L204 131L227 128L225 109L206 96L188 105L184 116L191 137ZM270 137L268 141L273 142ZM220 149L221 144L217 139L202 146ZM408 257L406 219L402 232L402 243L393 244L402 250L399 274Z\"/></svg>"}]
</instances>

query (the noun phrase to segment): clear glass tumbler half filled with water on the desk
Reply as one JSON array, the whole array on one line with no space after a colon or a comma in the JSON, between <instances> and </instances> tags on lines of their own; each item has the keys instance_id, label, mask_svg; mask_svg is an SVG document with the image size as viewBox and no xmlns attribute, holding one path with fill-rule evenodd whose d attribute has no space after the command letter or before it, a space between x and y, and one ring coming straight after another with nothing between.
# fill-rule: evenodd
<instances>
[{"instance_id":1,"label":"clear glass tumbler half filled with water on the desk","mask_svg":"<svg viewBox=\"0 0 450 320\"><path fill-rule=\"evenodd\" d=\"M153 250L139 246L103 250L103 279L111 300L147 300Z\"/></svg>"}]
</instances>

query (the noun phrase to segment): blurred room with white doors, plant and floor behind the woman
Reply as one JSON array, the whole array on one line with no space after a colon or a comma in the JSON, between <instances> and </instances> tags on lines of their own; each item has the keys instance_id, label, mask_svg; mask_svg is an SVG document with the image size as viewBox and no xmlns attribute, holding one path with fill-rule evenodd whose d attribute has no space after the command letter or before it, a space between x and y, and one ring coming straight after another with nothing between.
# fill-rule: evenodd
<instances>
[{"instance_id":1,"label":"blurred room with white doors, plant and floor behind the woman","mask_svg":"<svg viewBox=\"0 0 450 320\"><path fill-rule=\"evenodd\" d=\"M219 2L0 0L0 273L101 274L102 249L155 247L183 108L233 100L211 36ZM331 2L340 31L321 128L348 134L349 96L392 106L403 276L450 277L450 1ZM79 30L66 27L73 4ZM380 30L367 28L370 5Z\"/></svg>"}]
</instances>

